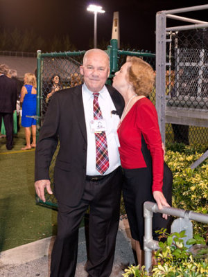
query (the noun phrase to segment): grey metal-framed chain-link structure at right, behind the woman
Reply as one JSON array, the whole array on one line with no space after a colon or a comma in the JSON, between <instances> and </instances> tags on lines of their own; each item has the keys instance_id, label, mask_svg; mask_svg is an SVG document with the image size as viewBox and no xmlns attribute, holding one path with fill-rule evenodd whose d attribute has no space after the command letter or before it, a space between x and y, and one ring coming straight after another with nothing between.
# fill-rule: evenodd
<instances>
[{"instance_id":1,"label":"grey metal-framed chain-link structure at right, behind the woman","mask_svg":"<svg viewBox=\"0 0 208 277\"><path fill-rule=\"evenodd\" d=\"M207 8L157 12L156 107L163 141L208 145L208 22L174 15ZM193 25L166 28L166 18Z\"/></svg>"}]
</instances>

